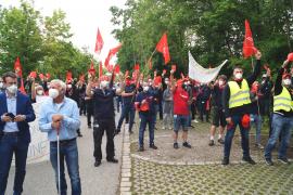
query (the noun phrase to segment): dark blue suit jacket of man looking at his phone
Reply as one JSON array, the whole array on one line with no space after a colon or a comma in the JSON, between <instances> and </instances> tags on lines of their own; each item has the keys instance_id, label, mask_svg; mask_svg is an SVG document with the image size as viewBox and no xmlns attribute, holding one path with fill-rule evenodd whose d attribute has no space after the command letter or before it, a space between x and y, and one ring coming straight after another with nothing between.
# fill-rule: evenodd
<instances>
[{"instance_id":1,"label":"dark blue suit jacket of man looking at his phone","mask_svg":"<svg viewBox=\"0 0 293 195\"><path fill-rule=\"evenodd\" d=\"M8 113L7 104L7 93L0 93L0 116ZM30 132L28 122L31 122L36 119L35 112L33 109L30 100L27 95L17 92L16 96L16 115L25 115L26 119L24 121L17 122L18 127L18 138L25 143L30 142ZM0 134L2 134L5 122L0 120Z\"/></svg>"}]
</instances>

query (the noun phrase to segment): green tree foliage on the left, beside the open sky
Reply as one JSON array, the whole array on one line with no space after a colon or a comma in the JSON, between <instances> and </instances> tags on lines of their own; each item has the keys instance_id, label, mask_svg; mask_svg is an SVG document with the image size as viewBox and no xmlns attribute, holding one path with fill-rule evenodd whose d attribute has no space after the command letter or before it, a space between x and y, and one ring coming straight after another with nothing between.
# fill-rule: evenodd
<instances>
[{"instance_id":1,"label":"green tree foliage on the left, beside the open sky","mask_svg":"<svg viewBox=\"0 0 293 195\"><path fill-rule=\"evenodd\" d=\"M61 10L43 17L28 1L20 8L0 8L0 74L13 70L17 56L24 76L31 70L50 73L53 78L65 78L67 70L75 77L86 73L92 55L73 46L65 18Z\"/></svg>"}]
</instances>

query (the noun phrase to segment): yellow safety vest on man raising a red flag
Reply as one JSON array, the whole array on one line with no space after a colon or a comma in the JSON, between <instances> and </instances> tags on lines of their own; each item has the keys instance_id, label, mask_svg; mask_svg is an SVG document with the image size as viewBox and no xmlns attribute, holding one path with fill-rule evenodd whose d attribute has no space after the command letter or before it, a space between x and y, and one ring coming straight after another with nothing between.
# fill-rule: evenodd
<instances>
[{"instance_id":1,"label":"yellow safety vest on man raising a red flag","mask_svg":"<svg viewBox=\"0 0 293 195\"><path fill-rule=\"evenodd\" d=\"M229 108L252 103L246 79L242 80L241 88L235 81L229 81L228 86L230 88Z\"/></svg>"}]
</instances>

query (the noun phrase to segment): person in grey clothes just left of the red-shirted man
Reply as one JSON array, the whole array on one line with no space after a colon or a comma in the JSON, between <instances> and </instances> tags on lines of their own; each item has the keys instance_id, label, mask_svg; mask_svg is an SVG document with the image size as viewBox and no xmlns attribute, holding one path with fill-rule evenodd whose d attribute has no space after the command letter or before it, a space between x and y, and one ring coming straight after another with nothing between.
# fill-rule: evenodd
<instances>
[{"instance_id":1,"label":"person in grey clothes just left of the red-shirted man","mask_svg":"<svg viewBox=\"0 0 293 195\"><path fill-rule=\"evenodd\" d=\"M165 78L165 84L166 89L163 93L163 129L168 128L171 130L171 125L173 125L173 91L171 91L171 86L170 81L168 78Z\"/></svg>"}]
</instances>

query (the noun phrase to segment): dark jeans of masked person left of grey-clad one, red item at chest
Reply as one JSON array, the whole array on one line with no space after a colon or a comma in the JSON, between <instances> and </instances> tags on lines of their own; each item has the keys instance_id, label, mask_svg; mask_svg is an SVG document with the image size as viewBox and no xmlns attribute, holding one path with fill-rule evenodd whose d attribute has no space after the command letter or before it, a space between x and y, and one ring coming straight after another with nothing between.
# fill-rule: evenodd
<instances>
[{"instance_id":1,"label":"dark jeans of masked person left of grey-clad one, red item at chest","mask_svg":"<svg viewBox=\"0 0 293 195\"><path fill-rule=\"evenodd\" d=\"M154 114L149 113L139 113L140 126L139 126L139 146L143 146L143 136L149 125L149 135L150 135L150 145L154 144L154 126L155 126L155 116Z\"/></svg>"}]
</instances>

